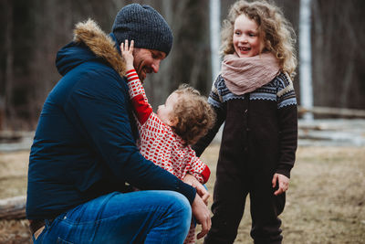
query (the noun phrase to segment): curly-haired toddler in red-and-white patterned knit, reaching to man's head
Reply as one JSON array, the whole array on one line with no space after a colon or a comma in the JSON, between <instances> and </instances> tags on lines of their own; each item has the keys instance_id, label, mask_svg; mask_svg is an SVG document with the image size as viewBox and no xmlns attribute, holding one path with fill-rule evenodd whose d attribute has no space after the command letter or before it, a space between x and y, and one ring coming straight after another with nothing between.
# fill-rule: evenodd
<instances>
[{"instance_id":1,"label":"curly-haired toddler in red-and-white patterned knit, reaching to man's head","mask_svg":"<svg viewBox=\"0 0 365 244\"><path fill-rule=\"evenodd\" d=\"M141 154L178 178L193 175L201 184L206 183L210 170L195 155L192 145L214 124L215 113L198 90L184 84L172 92L157 113L152 112L141 80L133 67L133 41L121 43L120 50L126 61L130 100L137 118ZM204 199L205 201L207 199ZM207 202L206 202L207 203ZM195 243L195 223L184 243Z\"/></svg>"}]
</instances>

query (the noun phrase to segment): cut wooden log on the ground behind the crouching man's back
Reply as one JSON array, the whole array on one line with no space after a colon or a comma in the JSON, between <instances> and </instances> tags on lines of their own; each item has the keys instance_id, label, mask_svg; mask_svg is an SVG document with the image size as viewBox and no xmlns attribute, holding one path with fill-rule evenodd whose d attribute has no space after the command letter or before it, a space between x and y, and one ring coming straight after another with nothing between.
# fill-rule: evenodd
<instances>
[{"instance_id":1,"label":"cut wooden log on the ground behind the crouching man's back","mask_svg":"<svg viewBox=\"0 0 365 244\"><path fill-rule=\"evenodd\" d=\"M26 196L0 200L0 219L26 218Z\"/></svg>"}]
</instances>

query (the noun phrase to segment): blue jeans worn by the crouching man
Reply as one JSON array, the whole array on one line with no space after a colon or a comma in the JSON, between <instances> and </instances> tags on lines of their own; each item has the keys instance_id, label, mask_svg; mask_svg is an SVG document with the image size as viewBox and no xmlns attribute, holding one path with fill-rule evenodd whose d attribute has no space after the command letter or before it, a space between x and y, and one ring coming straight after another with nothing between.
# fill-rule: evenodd
<instances>
[{"instance_id":1,"label":"blue jeans worn by the crouching man","mask_svg":"<svg viewBox=\"0 0 365 244\"><path fill-rule=\"evenodd\" d=\"M172 191L114 192L61 214L34 243L183 243L192 220Z\"/></svg>"}]
</instances>

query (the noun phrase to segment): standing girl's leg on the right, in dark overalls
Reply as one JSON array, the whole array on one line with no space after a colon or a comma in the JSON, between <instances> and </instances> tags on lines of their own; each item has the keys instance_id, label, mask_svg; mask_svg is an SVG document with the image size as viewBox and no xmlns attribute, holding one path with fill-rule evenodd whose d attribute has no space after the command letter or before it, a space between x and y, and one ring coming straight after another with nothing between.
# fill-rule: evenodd
<instances>
[{"instance_id":1,"label":"standing girl's leg on the right, in dark overalls","mask_svg":"<svg viewBox=\"0 0 365 244\"><path fill-rule=\"evenodd\" d=\"M257 179L257 180L256 180ZM257 243L281 243L281 220L278 218L285 206L285 193L274 195L271 179L255 177L255 189L250 193L252 229L251 237Z\"/></svg>"}]
</instances>

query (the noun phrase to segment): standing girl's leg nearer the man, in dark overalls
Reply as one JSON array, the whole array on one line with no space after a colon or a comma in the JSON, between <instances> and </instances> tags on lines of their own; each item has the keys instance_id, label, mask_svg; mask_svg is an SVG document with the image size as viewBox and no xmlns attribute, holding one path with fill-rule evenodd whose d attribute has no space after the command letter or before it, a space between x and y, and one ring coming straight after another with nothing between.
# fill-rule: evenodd
<instances>
[{"instance_id":1,"label":"standing girl's leg nearer the man, in dark overalls","mask_svg":"<svg viewBox=\"0 0 365 244\"><path fill-rule=\"evenodd\" d=\"M243 187L242 176L225 174L225 172L220 174L218 168L217 171L212 206L214 214L212 228L204 239L204 243L228 244L235 241L237 228L244 214L247 191Z\"/></svg>"}]
</instances>

